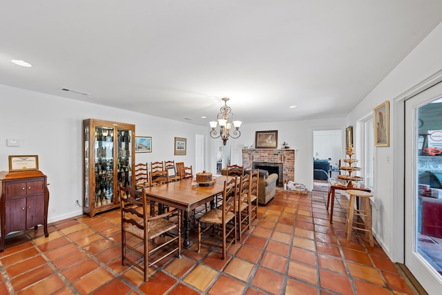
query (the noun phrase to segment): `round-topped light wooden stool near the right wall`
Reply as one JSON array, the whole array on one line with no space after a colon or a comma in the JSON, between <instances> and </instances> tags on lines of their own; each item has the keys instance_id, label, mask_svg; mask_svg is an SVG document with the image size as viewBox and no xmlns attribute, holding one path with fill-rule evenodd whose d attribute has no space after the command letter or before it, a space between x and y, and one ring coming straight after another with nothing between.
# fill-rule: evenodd
<instances>
[{"instance_id":1,"label":"round-topped light wooden stool near the right wall","mask_svg":"<svg viewBox=\"0 0 442 295\"><path fill-rule=\"evenodd\" d=\"M359 229L365 231L365 236L369 238L370 246L373 247L373 231L372 231L372 205L370 204L369 198L373 196L372 193L367 193L367 191L357 191L356 189L349 189L346 191L350 195L348 212L347 212L347 223L345 224L345 233L347 233L347 240L350 240L350 235L352 234L352 229ZM362 198L363 209L355 209L354 203L356 202L356 197ZM353 222L353 216L364 216L365 222ZM364 227L353 226L364 225Z\"/></svg>"}]
</instances>

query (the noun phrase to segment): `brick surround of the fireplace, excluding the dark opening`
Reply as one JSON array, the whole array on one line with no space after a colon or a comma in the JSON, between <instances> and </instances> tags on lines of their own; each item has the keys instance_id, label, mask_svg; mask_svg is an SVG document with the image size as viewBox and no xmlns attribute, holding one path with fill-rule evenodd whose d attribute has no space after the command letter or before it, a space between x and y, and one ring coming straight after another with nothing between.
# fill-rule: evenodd
<instances>
[{"instance_id":1,"label":"brick surround of the fireplace, excluding the dark opening","mask_svg":"<svg viewBox=\"0 0 442 295\"><path fill-rule=\"evenodd\" d=\"M253 168L253 162L281 163L282 177L280 183L295 179L294 149L242 149L242 166Z\"/></svg>"}]
</instances>

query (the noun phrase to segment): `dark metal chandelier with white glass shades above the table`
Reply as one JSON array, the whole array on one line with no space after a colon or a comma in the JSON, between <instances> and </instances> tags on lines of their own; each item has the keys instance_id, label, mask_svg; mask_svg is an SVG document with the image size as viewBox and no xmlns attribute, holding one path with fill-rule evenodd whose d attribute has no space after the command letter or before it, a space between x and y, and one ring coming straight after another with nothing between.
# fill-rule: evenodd
<instances>
[{"instance_id":1,"label":"dark metal chandelier with white glass shades above the table","mask_svg":"<svg viewBox=\"0 0 442 295\"><path fill-rule=\"evenodd\" d=\"M223 97L222 100L224 101L224 106L220 108L220 113L216 116L217 121L209 122L212 131L210 131L210 136L212 138L218 138L221 137L222 144L224 146L226 145L227 140L229 139L229 136L232 138L238 138L241 136L240 132L240 126L242 124L241 121L235 121L235 115L231 113L232 109L230 106L227 106L227 101L229 98ZM215 128L217 124L220 124L220 131L216 131ZM235 127L235 129L231 130L231 127Z\"/></svg>"}]
</instances>

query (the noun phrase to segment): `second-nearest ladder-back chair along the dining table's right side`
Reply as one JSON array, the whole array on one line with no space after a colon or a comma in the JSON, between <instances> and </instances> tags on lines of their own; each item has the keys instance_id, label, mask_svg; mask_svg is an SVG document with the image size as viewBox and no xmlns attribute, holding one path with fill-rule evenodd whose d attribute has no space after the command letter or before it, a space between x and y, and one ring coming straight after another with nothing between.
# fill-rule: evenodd
<instances>
[{"instance_id":1,"label":"second-nearest ladder-back chair along the dining table's right side","mask_svg":"<svg viewBox=\"0 0 442 295\"><path fill-rule=\"evenodd\" d=\"M238 190L238 240L242 239L242 234L251 229L250 209L251 204L249 202L250 193L250 173L240 177L240 187Z\"/></svg>"}]
</instances>

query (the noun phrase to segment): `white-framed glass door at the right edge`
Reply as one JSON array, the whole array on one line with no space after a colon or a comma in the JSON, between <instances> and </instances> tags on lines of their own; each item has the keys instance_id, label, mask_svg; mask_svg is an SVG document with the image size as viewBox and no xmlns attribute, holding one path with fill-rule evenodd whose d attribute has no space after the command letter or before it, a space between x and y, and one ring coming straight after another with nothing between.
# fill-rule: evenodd
<instances>
[{"instance_id":1,"label":"white-framed glass door at the right edge","mask_svg":"<svg viewBox=\"0 0 442 295\"><path fill-rule=\"evenodd\" d=\"M442 83L405 101L405 265L429 294L442 288Z\"/></svg>"}]
</instances>

